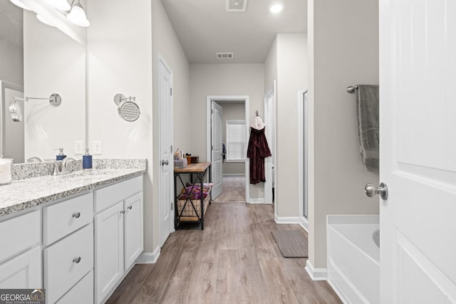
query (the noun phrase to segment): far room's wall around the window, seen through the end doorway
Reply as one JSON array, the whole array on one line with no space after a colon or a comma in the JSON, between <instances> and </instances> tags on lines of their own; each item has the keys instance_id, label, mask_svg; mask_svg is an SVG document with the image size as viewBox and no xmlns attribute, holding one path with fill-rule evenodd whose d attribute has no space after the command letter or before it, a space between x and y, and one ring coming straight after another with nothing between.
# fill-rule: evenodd
<instances>
[{"instance_id":1,"label":"far room's wall around the window, seen through the end doorway","mask_svg":"<svg viewBox=\"0 0 456 304\"><path fill-rule=\"evenodd\" d=\"M222 106L222 134L223 142L227 145L227 120L244 120L245 119L245 107L244 104L240 103L219 103ZM249 124L249 122L247 122ZM247 147L247 142L246 142ZM245 163L244 162L224 162L222 165L223 174L245 174Z\"/></svg>"}]
</instances>

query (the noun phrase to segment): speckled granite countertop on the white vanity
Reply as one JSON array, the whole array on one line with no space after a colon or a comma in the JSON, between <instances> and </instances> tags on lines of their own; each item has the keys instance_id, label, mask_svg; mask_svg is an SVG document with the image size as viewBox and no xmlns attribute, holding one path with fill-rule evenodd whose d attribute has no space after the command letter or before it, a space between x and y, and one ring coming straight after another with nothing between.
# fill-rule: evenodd
<instances>
[{"instance_id":1,"label":"speckled granite countertop on the white vanity","mask_svg":"<svg viewBox=\"0 0 456 304\"><path fill-rule=\"evenodd\" d=\"M0 217L131 177L138 177L145 172L145 167L93 169L90 172L80 170L56 177L46 175L14 180L11 184L0 186Z\"/></svg>"}]
</instances>

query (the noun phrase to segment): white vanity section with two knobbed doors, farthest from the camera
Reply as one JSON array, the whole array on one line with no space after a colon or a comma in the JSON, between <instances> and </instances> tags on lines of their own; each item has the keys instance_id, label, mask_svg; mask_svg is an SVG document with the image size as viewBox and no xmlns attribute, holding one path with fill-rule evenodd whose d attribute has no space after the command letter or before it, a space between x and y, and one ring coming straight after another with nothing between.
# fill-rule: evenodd
<instances>
[{"instance_id":1,"label":"white vanity section with two knobbed doors, farthest from the camera","mask_svg":"<svg viewBox=\"0 0 456 304\"><path fill-rule=\"evenodd\" d=\"M143 244L142 176L95 190L95 302L103 303Z\"/></svg>"}]
</instances>

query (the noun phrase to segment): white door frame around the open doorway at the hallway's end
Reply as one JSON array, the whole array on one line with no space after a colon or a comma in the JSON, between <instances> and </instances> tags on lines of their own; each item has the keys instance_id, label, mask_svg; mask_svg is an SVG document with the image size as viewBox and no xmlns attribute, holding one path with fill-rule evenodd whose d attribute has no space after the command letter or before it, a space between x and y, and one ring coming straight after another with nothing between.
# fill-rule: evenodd
<instances>
[{"instance_id":1,"label":"white door frame around the open doorway at the hallway's end","mask_svg":"<svg viewBox=\"0 0 456 304\"><path fill-rule=\"evenodd\" d=\"M224 101L224 102L244 102L244 116L245 116L245 140L249 142L249 109L250 109L250 98L249 95L207 95L206 96L206 159L208 162L212 161L212 137L211 137L211 105L212 101ZM246 149L247 155L247 149ZM245 159L245 201L247 204L250 203L250 187L249 187L249 164L250 160L246 157Z\"/></svg>"}]
</instances>

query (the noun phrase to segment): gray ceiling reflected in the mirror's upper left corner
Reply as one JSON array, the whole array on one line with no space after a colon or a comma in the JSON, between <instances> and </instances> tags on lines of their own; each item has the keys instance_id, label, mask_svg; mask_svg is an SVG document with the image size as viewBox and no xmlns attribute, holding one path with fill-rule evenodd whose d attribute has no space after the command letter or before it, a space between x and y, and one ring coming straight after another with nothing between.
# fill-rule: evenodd
<instances>
[{"instance_id":1,"label":"gray ceiling reflected in the mirror's upper left corner","mask_svg":"<svg viewBox=\"0 0 456 304\"><path fill-rule=\"evenodd\" d=\"M0 41L22 48L22 9L11 1L0 1Z\"/></svg>"}]
</instances>

